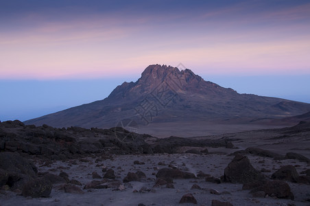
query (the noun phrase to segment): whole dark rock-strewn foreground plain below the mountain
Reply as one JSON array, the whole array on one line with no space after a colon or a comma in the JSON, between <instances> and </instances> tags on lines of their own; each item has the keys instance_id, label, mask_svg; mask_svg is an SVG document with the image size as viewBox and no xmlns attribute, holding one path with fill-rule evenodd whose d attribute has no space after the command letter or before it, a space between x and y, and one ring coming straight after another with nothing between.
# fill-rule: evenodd
<instances>
[{"instance_id":1,"label":"whole dark rock-strewn foreground plain below the mountain","mask_svg":"<svg viewBox=\"0 0 310 206\"><path fill-rule=\"evenodd\" d=\"M310 205L309 128L157 139L3 122L0 205Z\"/></svg>"}]
</instances>

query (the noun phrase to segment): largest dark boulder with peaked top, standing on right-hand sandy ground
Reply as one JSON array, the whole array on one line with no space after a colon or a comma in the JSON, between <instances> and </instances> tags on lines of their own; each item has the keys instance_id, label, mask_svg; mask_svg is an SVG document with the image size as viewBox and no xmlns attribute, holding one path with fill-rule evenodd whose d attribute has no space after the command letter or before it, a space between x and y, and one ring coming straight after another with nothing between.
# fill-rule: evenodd
<instances>
[{"instance_id":1,"label":"largest dark boulder with peaked top, standing on right-hand sandy ground","mask_svg":"<svg viewBox=\"0 0 310 206\"><path fill-rule=\"evenodd\" d=\"M264 179L261 172L255 170L248 157L236 155L224 170L224 181L230 183L248 183Z\"/></svg>"}]
</instances>

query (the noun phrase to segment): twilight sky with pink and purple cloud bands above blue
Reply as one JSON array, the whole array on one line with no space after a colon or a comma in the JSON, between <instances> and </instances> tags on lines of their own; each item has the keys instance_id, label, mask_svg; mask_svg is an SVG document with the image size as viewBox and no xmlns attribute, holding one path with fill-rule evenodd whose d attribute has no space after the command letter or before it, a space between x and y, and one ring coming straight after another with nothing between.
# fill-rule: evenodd
<instances>
[{"instance_id":1,"label":"twilight sky with pink and purple cloud bands above blue","mask_svg":"<svg viewBox=\"0 0 310 206\"><path fill-rule=\"evenodd\" d=\"M310 2L0 0L1 121L180 63L239 93L310 103Z\"/></svg>"}]
</instances>

